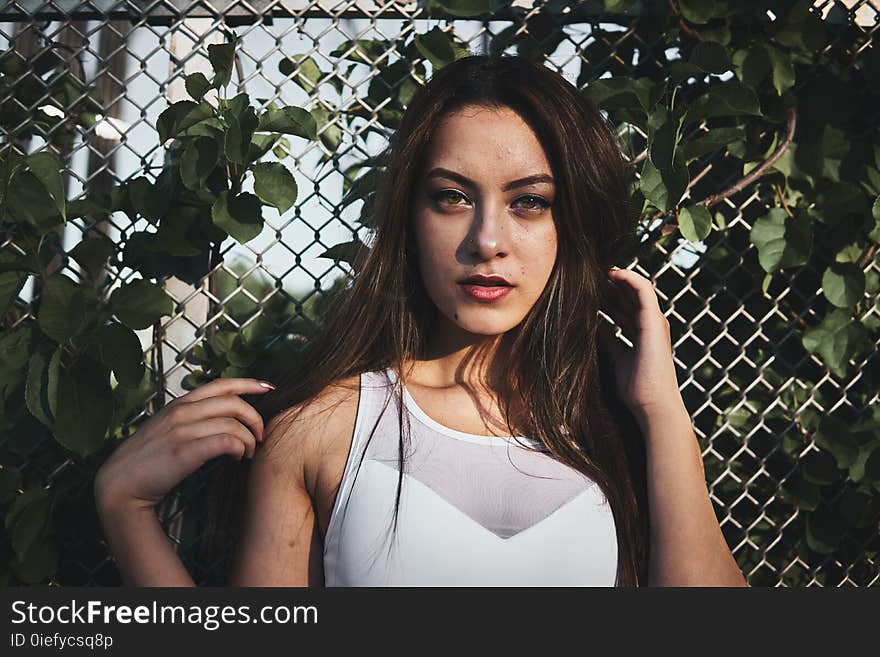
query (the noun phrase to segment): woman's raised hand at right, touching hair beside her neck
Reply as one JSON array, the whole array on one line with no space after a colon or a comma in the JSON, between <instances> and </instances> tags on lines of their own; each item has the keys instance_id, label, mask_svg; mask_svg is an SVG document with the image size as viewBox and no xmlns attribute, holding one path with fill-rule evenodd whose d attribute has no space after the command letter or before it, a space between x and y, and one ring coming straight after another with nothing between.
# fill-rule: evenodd
<instances>
[{"instance_id":1,"label":"woman's raised hand at right, touching hair beside her neck","mask_svg":"<svg viewBox=\"0 0 880 657\"><path fill-rule=\"evenodd\" d=\"M627 347L600 318L599 347L611 358L617 392L638 418L656 410L684 407L675 363L669 320L663 315L651 281L629 269L609 271L607 313L633 347Z\"/></svg>"}]
</instances>

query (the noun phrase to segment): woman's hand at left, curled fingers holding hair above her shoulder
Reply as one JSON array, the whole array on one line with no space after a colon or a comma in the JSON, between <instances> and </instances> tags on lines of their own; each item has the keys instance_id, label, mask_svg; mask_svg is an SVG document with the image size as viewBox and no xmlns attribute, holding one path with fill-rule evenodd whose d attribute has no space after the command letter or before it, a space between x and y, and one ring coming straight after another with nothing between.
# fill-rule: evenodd
<instances>
[{"instance_id":1,"label":"woman's hand at left, curled fingers holding hair above her shoulder","mask_svg":"<svg viewBox=\"0 0 880 657\"><path fill-rule=\"evenodd\" d=\"M123 513L153 508L205 461L222 454L252 458L263 420L239 395L268 390L256 379L217 379L166 405L98 470L98 506Z\"/></svg>"}]
</instances>

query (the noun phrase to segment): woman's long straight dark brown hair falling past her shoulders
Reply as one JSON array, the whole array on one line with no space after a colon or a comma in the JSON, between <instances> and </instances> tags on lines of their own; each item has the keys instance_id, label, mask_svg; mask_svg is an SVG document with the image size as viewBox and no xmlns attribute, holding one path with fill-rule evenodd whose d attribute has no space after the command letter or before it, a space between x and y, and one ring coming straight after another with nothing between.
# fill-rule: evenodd
<instances>
[{"instance_id":1,"label":"woman's long straight dark brown hair falling past her shoulders","mask_svg":"<svg viewBox=\"0 0 880 657\"><path fill-rule=\"evenodd\" d=\"M418 89L386 151L369 250L354 263L356 274L328 308L326 324L302 358L277 377L276 391L253 404L268 425L276 415L294 407L301 411L328 386L363 372L394 368L397 390L406 385L403 364L423 357L438 312L414 253L412 196L438 123L464 106L517 112L543 145L556 181L556 263L540 298L498 343L499 357L507 359L500 403L508 429L511 435L539 438L553 457L599 485L617 527L616 583L643 585L648 562L644 444L616 396L610 363L597 342L604 321L598 310L609 293L606 272L637 246L629 200L632 170L595 105L545 66L518 56L473 55L436 70ZM513 415L516 430L514 403L525 409L523 417ZM395 526L408 440L402 409L398 419ZM228 531L230 519L232 527L240 522L246 474L247 460L226 465L216 491L229 504L216 507L215 519L225 520L215 523L215 537L216 530ZM219 535L221 540L228 536Z\"/></svg>"}]
</instances>

